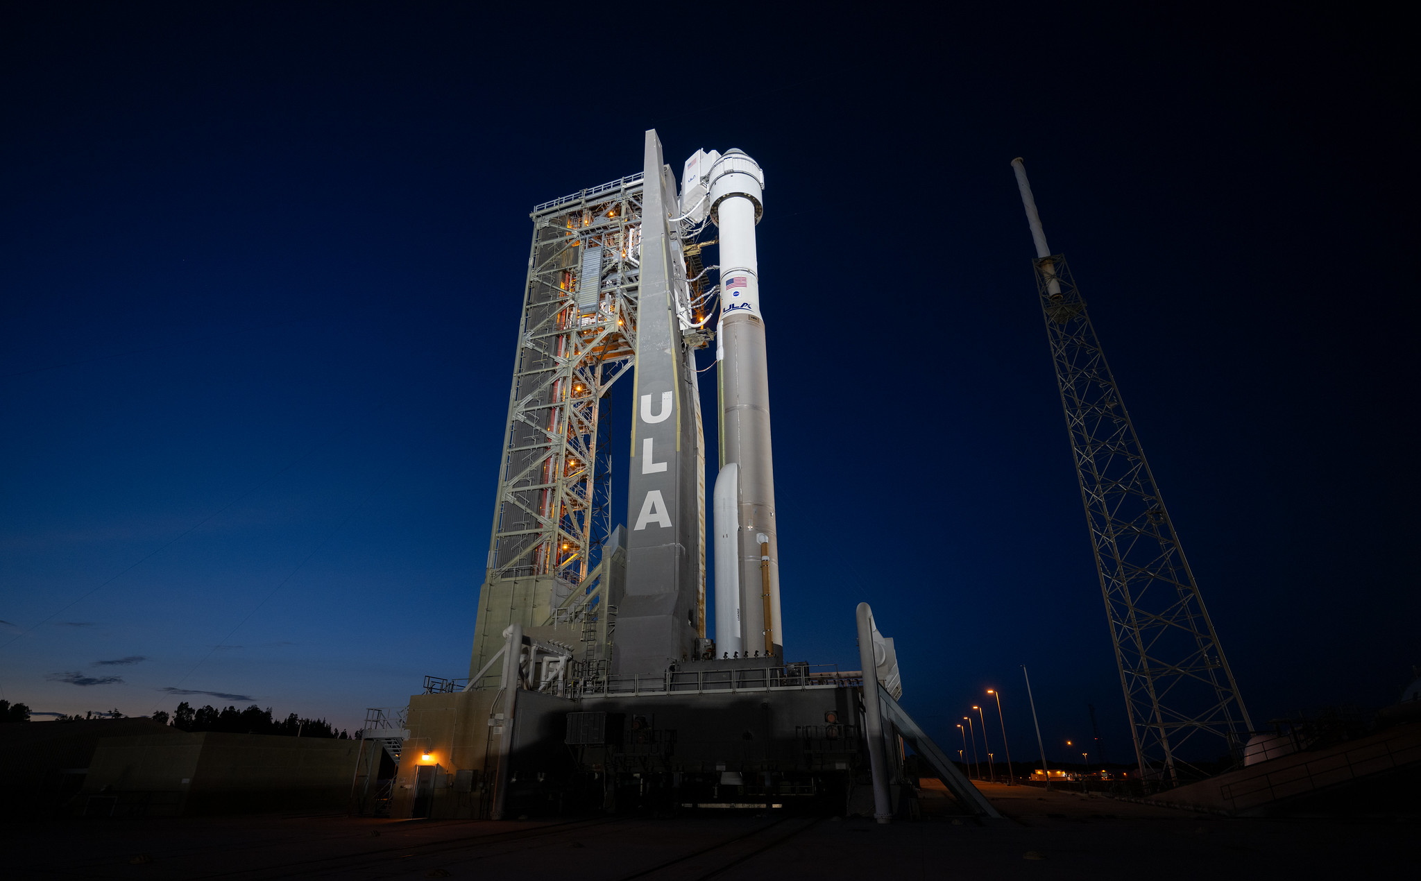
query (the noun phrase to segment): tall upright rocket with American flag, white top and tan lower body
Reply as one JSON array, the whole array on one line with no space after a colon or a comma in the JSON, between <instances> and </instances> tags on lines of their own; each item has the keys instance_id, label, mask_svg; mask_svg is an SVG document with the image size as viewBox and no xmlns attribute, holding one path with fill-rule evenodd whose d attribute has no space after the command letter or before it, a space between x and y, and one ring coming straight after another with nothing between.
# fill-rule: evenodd
<instances>
[{"instance_id":1,"label":"tall upright rocket with American flag, white top and tan lower body","mask_svg":"<svg viewBox=\"0 0 1421 881\"><path fill-rule=\"evenodd\" d=\"M709 173L710 219L720 229L720 473L716 476L716 514L722 492L737 496L732 529L716 523L716 648L779 655L784 645L780 624L779 541L774 523L774 469L770 456L770 387L766 371L764 320L760 315L759 261L755 225L763 213L764 173L737 149L726 151ZM733 465L735 469L729 466ZM722 490L722 482L733 489ZM730 526L730 524L728 524ZM736 560L725 567L722 560ZM730 575L733 575L733 583ZM722 594L737 598L739 648L726 639L720 621Z\"/></svg>"}]
</instances>

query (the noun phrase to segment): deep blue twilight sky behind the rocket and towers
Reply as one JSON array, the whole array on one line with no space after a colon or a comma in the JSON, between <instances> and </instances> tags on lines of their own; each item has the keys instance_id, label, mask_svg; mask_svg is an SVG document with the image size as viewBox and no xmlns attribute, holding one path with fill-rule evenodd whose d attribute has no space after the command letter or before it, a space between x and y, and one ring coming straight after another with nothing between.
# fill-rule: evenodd
<instances>
[{"instance_id":1,"label":"deep blue twilight sky behind the rocket and towers","mask_svg":"<svg viewBox=\"0 0 1421 881\"><path fill-rule=\"evenodd\" d=\"M0 696L355 728L463 675L527 212L655 126L676 168L766 169L791 656L857 666L868 600L944 740L999 686L1034 756L1027 664L1049 742L1094 703L1130 756L1023 155L1255 719L1394 701L1411 48L1299 7L908 9L648 38L611 7L7 4Z\"/></svg>"}]
</instances>

